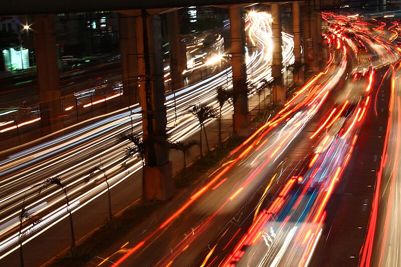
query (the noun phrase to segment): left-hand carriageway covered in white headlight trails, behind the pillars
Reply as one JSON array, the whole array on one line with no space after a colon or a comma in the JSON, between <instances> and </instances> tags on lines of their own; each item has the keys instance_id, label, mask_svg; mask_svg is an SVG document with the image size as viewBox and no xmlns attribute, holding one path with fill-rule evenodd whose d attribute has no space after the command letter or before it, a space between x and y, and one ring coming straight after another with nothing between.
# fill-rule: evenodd
<instances>
[{"instance_id":1,"label":"left-hand carriageway covered in white headlight trails, behind the pillars","mask_svg":"<svg viewBox=\"0 0 401 267\"><path fill-rule=\"evenodd\" d=\"M255 38L256 49L247 54L247 67L252 69L251 82L258 85L262 79L271 79L269 61L272 56L267 49L271 47L270 23L264 14L255 13L249 20L253 21L248 31ZM255 21L260 22L258 27L255 27ZM286 40L288 44L285 45L283 58L291 62L293 43L288 35ZM197 122L187 109L198 103L216 105L216 88L220 85L231 87L231 78L231 68L228 68L166 96L167 127L172 140L182 140L197 130ZM63 228L58 225L66 225L68 222L67 206L60 187L49 186L39 193L40 183L50 177L58 176L68 187L69 210L73 215L80 214L75 223L79 237L88 232L87 225L92 225L89 226L90 230L103 220L99 218L99 213L96 219L90 217L96 214L93 210L94 203L99 203L99 199L107 192L103 173L98 171L91 174L95 166L106 171L110 187L118 195L115 196L115 201L119 199L122 202L126 198L128 204L140 197L141 180L129 178L140 171L142 164L136 157L127 160L124 149L129 143L118 139L118 134L125 131L133 130L137 134L141 132L140 106L131 106L131 109L121 109L95 124L13 154L0 163L0 261L8 264L18 260L19 236L22 236L24 246L27 246L27 254L29 246L34 246L33 250L40 250L36 244L48 242L49 248L41 252L41 255L38 254L42 262L37 260L35 264L43 263L69 245L67 233L63 233L65 240L60 244L55 244L52 240L41 240L48 238L52 230ZM231 110L232 106L227 103L223 114ZM91 179L87 182L89 175ZM127 188L132 188L135 193L127 192ZM133 195L136 198L132 199ZM23 206L35 215L35 219L40 219L40 222L34 224L32 219L24 220L20 235L19 215ZM121 203L116 206L121 207ZM83 212L85 209L87 212ZM101 211L101 208L98 209ZM87 217L82 216L85 213L88 214Z\"/></svg>"}]
</instances>

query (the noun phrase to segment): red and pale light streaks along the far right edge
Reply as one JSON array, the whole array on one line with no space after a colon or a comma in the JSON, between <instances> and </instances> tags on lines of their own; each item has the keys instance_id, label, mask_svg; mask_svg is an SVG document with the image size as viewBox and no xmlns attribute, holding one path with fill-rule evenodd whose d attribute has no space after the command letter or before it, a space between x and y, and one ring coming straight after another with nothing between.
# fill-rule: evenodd
<instances>
[{"instance_id":1,"label":"red and pale light streaks along the far right edge","mask_svg":"<svg viewBox=\"0 0 401 267\"><path fill-rule=\"evenodd\" d=\"M397 65L398 68L395 69ZM401 173L397 167L401 146L399 142L401 139L399 61L390 69L391 91L387 131L380 168L377 172L367 235L360 251L359 266L399 265L399 257L397 256L400 250L400 239L397 233L397 226L399 225L399 192L397 192L397 187L399 187L399 173Z\"/></svg>"}]
</instances>

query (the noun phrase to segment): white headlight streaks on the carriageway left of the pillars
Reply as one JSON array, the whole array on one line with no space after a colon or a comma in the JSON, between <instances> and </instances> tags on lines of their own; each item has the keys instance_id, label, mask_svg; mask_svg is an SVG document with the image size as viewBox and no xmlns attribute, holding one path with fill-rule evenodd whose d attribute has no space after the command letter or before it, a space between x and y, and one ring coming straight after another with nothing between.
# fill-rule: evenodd
<instances>
[{"instance_id":1,"label":"white headlight streaks on the carriageway left of the pillars","mask_svg":"<svg viewBox=\"0 0 401 267\"><path fill-rule=\"evenodd\" d=\"M265 26L267 27L267 26ZM270 26L269 26L270 27ZM255 30L254 30L255 31ZM255 34L258 38L261 37L261 35L257 35ZM290 37L288 37L286 40L291 41ZM262 39L263 41L263 39ZM251 62L248 63L247 67L248 68L253 68L253 78L252 78L252 82L254 83L258 83L261 79L264 79L266 77L271 77L271 69L270 68L266 68L267 65L269 65L269 63L266 63L265 61L262 60L262 55L265 51L265 45L263 44L263 42L261 42L260 40L258 41L258 45L262 48L262 49L257 49L256 51L253 51L252 55L251 55ZM290 45L286 45L286 50L283 51L283 53L288 55L292 55L292 47ZM284 58L284 57L283 57ZM252 66L250 66L252 65ZM229 73L228 73L229 72ZM186 108L190 105L188 103L193 103L194 100L194 95L198 95L198 101L199 102L203 102L203 101L208 101L209 103L215 103L214 101L214 91L215 91L215 86L212 87L207 87L207 88L200 88L202 87L202 85L206 85L212 81L216 81L216 79L219 79L218 81L220 81L220 84L226 84L227 79L229 79L229 85L231 85L231 67L225 71L222 71L221 73L210 77L208 79L205 79L204 81L200 82L197 85L194 86L190 86L188 88L182 89L180 91L177 91L175 93L176 101L178 98L181 97L180 101L181 103L178 103L178 105L180 105L180 110L181 113L182 111L186 111ZM268 78L268 80L271 78ZM216 85L216 84L215 84ZM206 90L205 90L206 89ZM185 96L183 97L183 95L185 94ZM203 94L203 96L202 96ZM170 101L170 103L172 103L172 94L167 95L166 96L166 105L168 105L168 101ZM192 99L192 102L185 102L187 99ZM95 102L94 102L95 103ZM137 128L137 126L140 125L140 107L136 108L133 110L134 112L134 127ZM177 108L177 110L179 111L179 109ZM230 112L230 110L232 110L232 108L230 108L229 105L226 105L223 109L224 114L227 114L228 112ZM172 115L173 109L172 108L168 108L168 117L171 118L174 117ZM135 115L136 114L136 115ZM39 173L42 171L42 169L44 167L49 167L49 166L57 166L57 164L59 164L60 160L66 160L68 158L75 158L78 155L82 155L83 152L85 152L85 154L89 154L89 152L92 149L98 149L99 147L99 143L104 142L106 140L114 140L115 135L116 135L116 131L121 131L121 129L124 130L128 130L130 128L130 115L131 113L128 112L124 112L122 114L117 114L114 115L113 117L107 118L101 122L95 123L91 126L87 126L84 127L81 130L75 131L71 134L68 134L66 136L63 136L61 138L57 138L53 141L50 141L48 143L45 144L41 144L39 146L36 146L32 149L26 150L22 153L18 153L15 154L13 156L11 156L8 160L3 161L2 163L0 163L0 175L8 175L11 174L19 169L22 169L23 167L27 167L30 165L35 164L36 162L41 162L43 161L43 163L37 165L35 168L31 169L31 170L24 170L23 172L19 173L19 176L22 175L22 177L18 177L14 176L13 177L9 177L5 180L2 181L2 184L0 184L1 187L9 187L6 183L8 181L13 181L14 184L16 184L16 181L19 180L19 182L23 182L23 180L26 180L28 178L32 179L34 177L34 175L39 175ZM188 121L183 121L183 123L181 125L179 125L178 123L174 122L175 125L177 125L177 128L179 128L180 131L187 131L187 129L190 129L189 127L184 127L184 125L188 125ZM192 123L193 126L192 129L196 129L196 122L192 119ZM189 130L189 132L193 132L194 130ZM105 137L106 134L106 137ZM175 132L173 132L173 134L175 134ZM176 135L177 139L182 139L185 136L187 136L188 134L181 134L181 135ZM79 146L83 146L82 148L78 149L78 150L73 150L73 148L75 147L79 147ZM124 144L120 144L120 145L115 145L114 148L110 147L108 149L106 149L105 151L103 151L102 153L104 154L105 157L109 157L108 156L108 151L111 151L112 149L115 149L116 151L120 150L124 147ZM67 157L66 155L60 155L60 156L56 156L53 157L54 155L57 154L61 154L64 153L64 151L68 151L70 150L70 152L68 152ZM114 152L114 154L118 154L116 152ZM53 158L50 158L53 157ZM50 158L50 161L49 161ZM112 170L118 170L117 165L113 165L115 164L115 162L119 162L118 164L120 164L121 162L118 161L118 156L115 155L113 158L116 158L116 160L114 162L110 162L110 161L105 161L105 166L107 166L108 169L107 171L111 172ZM67 184L69 187L71 187L71 194L75 195L78 194L85 189L83 189L85 186L87 185L80 185L82 184L82 181L84 179L84 177L86 177L87 175L84 175L85 173L85 164L86 162L89 164L91 162L91 160L97 162L97 156L92 156L89 158L84 159L84 161L80 162L77 166L68 166L66 169L63 169L62 171L59 171L58 173L62 173L64 179L67 179ZM139 166L138 169L141 167L140 163L136 163L135 166ZM67 164L66 164L67 166ZM79 172L76 172L76 170L80 169ZM132 168L132 167L131 167ZM132 169L129 169L131 171L133 171ZM125 173L127 170L124 170L123 172L120 173ZM137 169L135 169L135 171L137 171ZM50 172L49 172L50 174ZM51 175L51 174L50 174ZM71 176L70 176L71 175ZM83 176L82 176L83 175ZM80 177L78 179L76 179L74 176L76 177ZM118 174L116 175L116 177L118 177ZM16 180L16 178L18 180ZM38 177L39 178L39 177ZM126 178L126 177L125 177ZM125 179L124 178L124 179ZM43 179L43 176L40 177L40 179ZM115 178L113 176L113 178L109 178L110 182L112 183L112 187L114 187L115 185L117 185L119 182L121 182L122 180L118 180L117 178ZM113 183L114 182L114 183ZM18 183L17 183L18 184ZM15 185L14 185L15 186ZM100 186L100 187L99 187ZM95 188L101 188L101 187L105 187L104 183L100 183L99 185L97 185ZM10 190L10 188L8 189ZM13 196L15 199L17 199L17 197L21 198L21 196L23 194L25 194L26 192L28 193L33 193L35 191L35 188L25 188L22 190L19 190L18 193L14 193ZM93 192L93 191L88 191L88 192ZM103 190L102 193L106 192L106 190ZM102 194L102 193L99 193ZM78 201L78 199L82 199L81 204L77 207L74 208L72 211L74 212L75 210L78 210L79 208L85 206L87 204L87 202L84 201L89 201L84 199L83 196L85 196L87 193L84 193L83 195L74 197L74 199L72 201ZM41 209L40 211L38 211L38 213L40 212L45 212L45 209L51 209L52 205L55 205L56 203L61 203L60 201L62 201L62 198L58 197L58 192L57 191L50 191L47 196L44 196L43 198L41 198L40 200L36 200L37 198L35 198L34 203L29 203L27 205L27 207L31 207L34 204L38 203L39 201L43 201L44 199L46 199L47 197L53 197L54 200L53 201L49 201L47 203L46 208L44 207L43 209ZM28 196L29 198L29 196ZM95 196L92 198L94 199ZM5 204L7 203L9 200L11 200L12 198L9 197L7 199L2 199L1 201ZM33 198L32 198L33 199ZM18 203L18 199L16 200L15 204L12 204L13 207L19 207L20 204ZM28 201L27 201L28 203ZM11 206L10 206L11 207ZM11 212L11 210L10 210ZM15 214L18 213L18 208L17 211L14 211L14 213L9 213L7 215L7 218L12 218L13 216L15 216ZM45 216L43 216L45 217ZM64 216L66 217L66 216ZM46 217L47 218L47 217ZM57 220L60 221L61 219ZM3 221L5 221L3 219ZM48 221L46 221L46 223L49 223ZM56 222L55 222L56 223ZM55 223L51 223L49 224L47 228L51 227L52 225L54 225ZM32 235L32 237L30 237L30 239L25 240L24 243L28 242L29 240L32 240L32 238L34 238L35 236L38 236L40 233L42 233L44 230L35 233L34 235ZM0 247L3 243L0 242ZM11 252L10 252L11 253ZM9 254L9 253L8 253ZM2 255L1 258L5 257L5 255Z\"/></svg>"}]
</instances>

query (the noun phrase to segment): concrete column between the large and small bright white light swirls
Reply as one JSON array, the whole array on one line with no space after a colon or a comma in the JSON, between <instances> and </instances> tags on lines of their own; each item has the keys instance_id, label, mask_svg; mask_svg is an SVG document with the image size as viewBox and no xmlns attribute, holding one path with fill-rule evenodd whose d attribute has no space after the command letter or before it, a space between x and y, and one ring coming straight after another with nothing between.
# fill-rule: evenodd
<instances>
[{"instance_id":1,"label":"concrete column between the large and small bright white light swirls","mask_svg":"<svg viewBox=\"0 0 401 267\"><path fill-rule=\"evenodd\" d=\"M283 69L283 57L282 57L282 39L281 39L281 23L280 23L280 6L279 4L271 4L272 13L272 33L273 33L273 64L272 64L272 76L274 79L273 88L273 103L284 104L286 97L286 88L283 84L283 76L281 70Z\"/></svg>"}]
</instances>

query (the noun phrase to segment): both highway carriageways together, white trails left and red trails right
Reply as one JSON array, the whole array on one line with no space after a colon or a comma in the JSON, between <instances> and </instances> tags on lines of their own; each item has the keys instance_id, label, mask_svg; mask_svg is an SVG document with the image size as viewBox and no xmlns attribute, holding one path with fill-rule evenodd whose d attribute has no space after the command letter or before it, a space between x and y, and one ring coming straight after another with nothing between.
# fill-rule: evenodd
<instances>
[{"instance_id":1,"label":"both highway carriageways together, white trails left and red trails right","mask_svg":"<svg viewBox=\"0 0 401 267\"><path fill-rule=\"evenodd\" d=\"M349 208L350 204L338 201L335 195L342 194L346 184L362 183L365 177L355 175L355 157L370 155L364 131L370 138L373 130L366 130L367 125L380 125L383 142L372 141L375 149L382 151L373 158L379 162L377 176L373 184L360 189L366 195L370 192L362 207L363 212L371 211L370 218L358 219L366 232L365 241L348 240L360 255L351 255L356 259L347 264L399 265L401 50L391 43L397 38L391 22L365 22L357 16L333 14L324 14L324 19L331 25L323 34L328 49L325 69L306 81L279 113L232 151L202 185L186 192L176 207L149 218L150 223L127 234L123 243L110 244L100 255L108 259L102 264L321 266L341 262L325 262L325 255L334 254L339 246L333 240L338 233L336 225L343 218L336 217L342 213L333 210L347 204ZM263 79L271 79L270 23L271 17L265 13L247 17L246 30L257 48L248 51L247 68L252 70L250 80L256 86ZM290 37L283 37L287 62L293 60ZM227 68L166 96L167 127L173 140L185 139L197 130L188 107L216 105L216 88L231 86L231 76L231 68ZM383 101L385 95L390 98L388 107ZM383 117L379 113L384 109L388 109L388 120L373 123L374 118ZM223 113L231 110L228 103ZM38 194L41 181L60 177L69 188L69 209L79 214L75 216L77 224L85 225L85 213L92 215L90 209L107 192L103 173L91 174L94 166L107 172L118 199L125 196L127 187L141 187L140 181L132 179L141 162L124 158L128 143L116 138L128 130L140 134L139 106L0 163L0 209L4 215L0 218L1 262L18 259L22 205L36 215L34 218L41 219L35 224L24 222L21 236L25 246L40 243L52 230L68 223L63 192L49 186ZM370 166L360 170L367 168L370 171ZM87 182L89 175L92 182ZM59 250L68 245L68 234L63 235L67 241ZM120 249L123 244L124 249Z\"/></svg>"}]
</instances>

